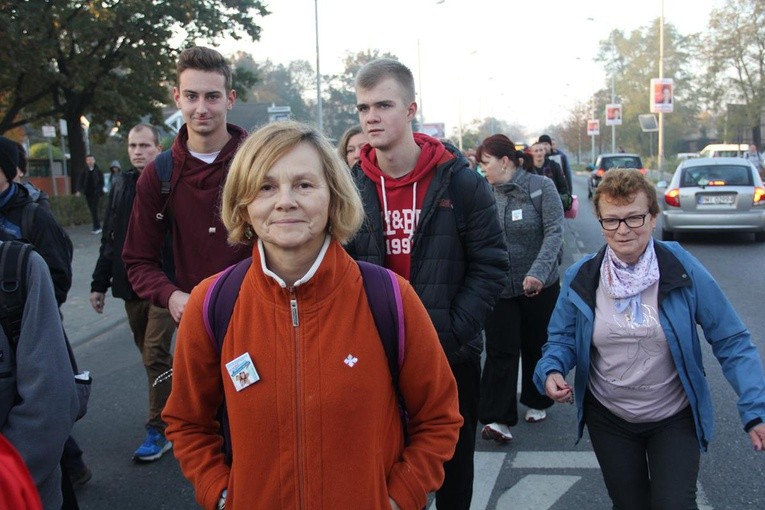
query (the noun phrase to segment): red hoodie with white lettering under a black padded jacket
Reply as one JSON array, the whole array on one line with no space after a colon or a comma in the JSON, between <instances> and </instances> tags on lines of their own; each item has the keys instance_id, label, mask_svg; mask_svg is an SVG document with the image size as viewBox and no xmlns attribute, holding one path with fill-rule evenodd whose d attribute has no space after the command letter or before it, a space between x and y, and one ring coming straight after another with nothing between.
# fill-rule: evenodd
<instances>
[{"instance_id":1,"label":"red hoodie with white lettering under a black padded jacket","mask_svg":"<svg viewBox=\"0 0 765 510\"><path fill-rule=\"evenodd\" d=\"M414 169L394 179L377 166L377 151L367 144L361 149L361 169L377 185L385 239L385 267L407 280L411 269L412 238L422 203L438 165L454 158L437 139L414 133L420 157Z\"/></svg>"}]
</instances>

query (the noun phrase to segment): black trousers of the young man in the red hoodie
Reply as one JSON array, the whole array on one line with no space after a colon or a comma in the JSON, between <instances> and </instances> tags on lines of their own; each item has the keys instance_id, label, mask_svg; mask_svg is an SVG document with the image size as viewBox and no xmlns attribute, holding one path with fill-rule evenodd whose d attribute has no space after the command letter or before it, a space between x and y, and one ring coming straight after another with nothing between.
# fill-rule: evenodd
<instances>
[{"instance_id":1,"label":"black trousers of the young man in the red hoodie","mask_svg":"<svg viewBox=\"0 0 765 510\"><path fill-rule=\"evenodd\" d=\"M452 365L457 381L460 414L464 420L454 456L444 464L444 483L436 492L438 510L468 510L473 499L473 455L478 427L481 360Z\"/></svg>"}]
</instances>

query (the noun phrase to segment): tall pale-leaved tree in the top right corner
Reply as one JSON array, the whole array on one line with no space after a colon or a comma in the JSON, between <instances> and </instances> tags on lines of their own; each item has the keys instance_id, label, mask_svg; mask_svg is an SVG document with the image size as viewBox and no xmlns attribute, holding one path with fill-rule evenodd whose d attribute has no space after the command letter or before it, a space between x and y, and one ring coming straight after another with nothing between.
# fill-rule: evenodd
<instances>
[{"instance_id":1,"label":"tall pale-leaved tree in the top right corner","mask_svg":"<svg viewBox=\"0 0 765 510\"><path fill-rule=\"evenodd\" d=\"M765 4L762 0L727 0L714 9L704 38L708 62L706 92L718 111L724 103L743 103L752 139L762 143L765 110Z\"/></svg>"}]
</instances>

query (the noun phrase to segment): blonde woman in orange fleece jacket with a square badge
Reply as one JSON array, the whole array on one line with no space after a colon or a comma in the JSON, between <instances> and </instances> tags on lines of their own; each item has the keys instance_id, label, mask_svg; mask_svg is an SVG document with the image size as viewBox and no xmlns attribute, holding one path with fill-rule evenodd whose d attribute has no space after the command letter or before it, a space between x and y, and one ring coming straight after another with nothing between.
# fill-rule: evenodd
<instances>
[{"instance_id":1,"label":"blonde woman in orange fleece jacket with a square badge","mask_svg":"<svg viewBox=\"0 0 765 510\"><path fill-rule=\"evenodd\" d=\"M398 277L404 446L361 273L340 245L363 221L342 161L313 128L270 124L235 156L222 216L229 241L253 244L252 266L220 355L203 317L213 278L191 293L163 413L197 501L229 510L423 508L462 424L456 385L427 312ZM224 396L230 466L215 419Z\"/></svg>"}]
</instances>

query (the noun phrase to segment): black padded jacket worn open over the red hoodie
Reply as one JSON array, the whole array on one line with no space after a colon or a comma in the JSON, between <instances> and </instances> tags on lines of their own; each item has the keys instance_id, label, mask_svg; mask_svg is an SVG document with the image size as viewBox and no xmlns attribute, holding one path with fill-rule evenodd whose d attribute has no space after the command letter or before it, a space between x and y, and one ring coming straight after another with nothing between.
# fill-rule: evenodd
<instances>
[{"instance_id":1,"label":"black padded jacket worn open over the red hoodie","mask_svg":"<svg viewBox=\"0 0 765 510\"><path fill-rule=\"evenodd\" d=\"M480 357L480 333L507 282L508 258L488 184L457 149L446 148L455 157L436 168L425 196L412 240L409 281L454 365ZM383 265L385 240L376 185L360 165L352 172L366 219L346 249L354 259ZM459 196L452 197L452 191Z\"/></svg>"}]
</instances>

